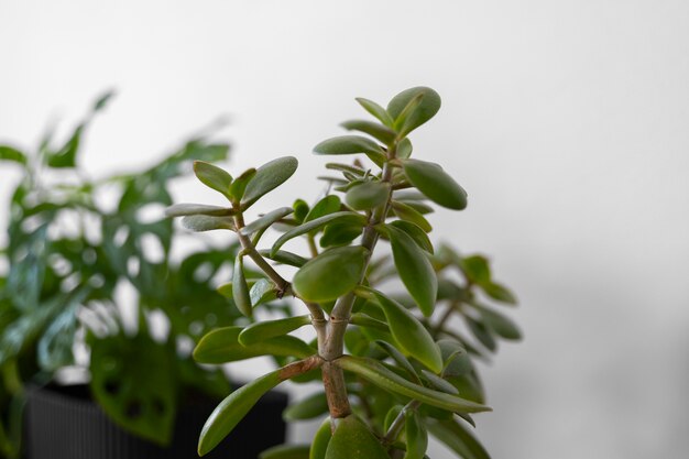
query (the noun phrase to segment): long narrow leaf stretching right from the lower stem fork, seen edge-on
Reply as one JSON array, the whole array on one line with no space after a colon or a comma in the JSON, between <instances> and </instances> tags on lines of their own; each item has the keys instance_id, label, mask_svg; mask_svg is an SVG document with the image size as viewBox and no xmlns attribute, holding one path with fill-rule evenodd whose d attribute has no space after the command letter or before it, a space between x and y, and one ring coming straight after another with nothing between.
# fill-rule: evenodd
<instances>
[{"instance_id":1,"label":"long narrow leaf stretching right from the lower stem fork, seen edge-on","mask_svg":"<svg viewBox=\"0 0 689 459\"><path fill-rule=\"evenodd\" d=\"M394 392L438 408L459 413L481 413L491 411L491 408L485 405L414 384L400 376L397 373L387 370L382 363L374 359L343 356L335 362L343 370L351 371L385 391Z\"/></svg>"}]
</instances>

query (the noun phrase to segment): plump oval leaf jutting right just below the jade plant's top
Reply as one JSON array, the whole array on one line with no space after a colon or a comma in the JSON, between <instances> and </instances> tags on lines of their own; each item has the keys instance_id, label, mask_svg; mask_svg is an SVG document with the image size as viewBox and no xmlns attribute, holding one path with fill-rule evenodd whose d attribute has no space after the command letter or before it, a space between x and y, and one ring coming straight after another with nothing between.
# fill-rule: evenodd
<instances>
[{"instance_id":1,"label":"plump oval leaf jutting right just below the jade plant's top","mask_svg":"<svg viewBox=\"0 0 689 459\"><path fill-rule=\"evenodd\" d=\"M404 160L403 167L409 183L428 199L449 209L467 207L467 192L438 164Z\"/></svg>"}]
</instances>

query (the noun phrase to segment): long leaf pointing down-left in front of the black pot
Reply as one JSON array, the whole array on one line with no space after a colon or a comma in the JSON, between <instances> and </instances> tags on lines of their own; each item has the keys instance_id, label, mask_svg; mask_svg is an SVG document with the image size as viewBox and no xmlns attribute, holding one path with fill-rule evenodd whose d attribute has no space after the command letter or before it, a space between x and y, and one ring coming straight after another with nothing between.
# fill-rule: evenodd
<instances>
[{"instance_id":1,"label":"long leaf pointing down-left in front of the black pot","mask_svg":"<svg viewBox=\"0 0 689 459\"><path fill-rule=\"evenodd\" d=\"M210 452L227 437L253 405L270 390L280 384L282 370L267 373L232 392L216 407L201 429L198 455Z\"/></svg>"}]
</instances>

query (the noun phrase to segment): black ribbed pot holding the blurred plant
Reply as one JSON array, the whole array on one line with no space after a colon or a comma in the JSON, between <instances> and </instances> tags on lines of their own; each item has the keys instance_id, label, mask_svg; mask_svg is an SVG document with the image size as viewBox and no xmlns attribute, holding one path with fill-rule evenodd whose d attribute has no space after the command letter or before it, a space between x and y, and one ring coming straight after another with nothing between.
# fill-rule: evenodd
<instances>
[{"instance_id":1,"label":"black ribbed pot holding the blurred plant","mask_svg":"<svg viewBox=\"0 0 689 459\"><path fill-rule=\"evenodd\" d=\"M88 386L34 387L26 409L26 459L195 459L198 434L218 402L200 398L181 406L173 442L163 448L112 423ZM256 459L284 442L286 405L284 393L267 393L206 458Z\"/></svg>"}]
</instances>

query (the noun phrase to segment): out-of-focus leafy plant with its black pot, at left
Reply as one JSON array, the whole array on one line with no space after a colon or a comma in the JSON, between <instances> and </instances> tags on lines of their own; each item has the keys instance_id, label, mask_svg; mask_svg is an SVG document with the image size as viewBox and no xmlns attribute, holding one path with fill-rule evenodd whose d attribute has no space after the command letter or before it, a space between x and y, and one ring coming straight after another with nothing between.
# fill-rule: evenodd
<instances>
[{"instance_id":1,"label":"out-of-focus leafy plant with its black pot, at left","mask_svg":"<svg viewBox=\"0 0 689 459\"><path fill-rule=\"evenodd\" d=\"M195 138L152 167L91 179L78 167L79 145L109 98L64 143L48 133L32 155L0 145L0 160L22 173L1 253L0 457L19 458L22 438L30 459L195 457L194 433L231 391L223 372L198 365L190 351L240 317L215 281L238 245L175 260L184 236L163 214L192 161L226 160L229 146ZM155 319L166 332L149 326ZM59 384L56 375L75 367L88 372L88 386ZM275 445L286 396L267 402L254 423L267 428L263 445ZM247 424L243 435L251 430ZM217 456L253 458L261 448L238 438Z\"/></svg>"}]
</instances>

